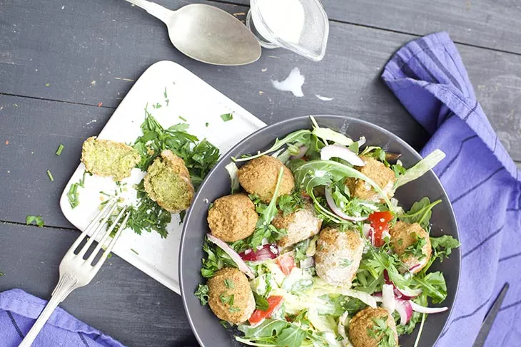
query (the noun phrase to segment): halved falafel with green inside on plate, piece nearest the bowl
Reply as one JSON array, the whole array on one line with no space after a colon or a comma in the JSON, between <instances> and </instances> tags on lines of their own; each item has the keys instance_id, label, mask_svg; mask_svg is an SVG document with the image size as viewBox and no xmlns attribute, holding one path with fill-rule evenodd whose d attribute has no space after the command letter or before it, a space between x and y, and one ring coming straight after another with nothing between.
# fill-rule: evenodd
<instances>
[{"instance_id":1,"label":"halved falafel with green inside on plate, piece nearest the bowl","mask_svg":"<svg viewBox=\"0 0 521 347\"><path fill-rule=\"evenodd\" d=\"M153 201L172 213L190 207L194 192L185 162L171 150L163 150L146 170L145 190Z\"/></svg>"}]
</instances>

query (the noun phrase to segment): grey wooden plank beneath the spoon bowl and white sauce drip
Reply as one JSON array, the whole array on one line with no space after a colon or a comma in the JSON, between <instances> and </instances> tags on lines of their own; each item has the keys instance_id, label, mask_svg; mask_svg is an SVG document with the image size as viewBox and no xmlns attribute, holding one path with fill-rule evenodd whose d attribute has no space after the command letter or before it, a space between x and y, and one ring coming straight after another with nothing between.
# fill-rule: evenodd
<instances>
[{"instance_id":1,"label":"grey wooden plank beneath the spoon bowl and white sauce drip","mask_svg":"<svg viewBox=\"0 0 521 347\"><path fill-rule=\"evenodd\" d=\"M158 2L171 8L188 3ZM243 6L216 5L241 18L247 11ZM4 4L3 9L0 93L115 107L132 85L121 78L135 80L151 63L169 59L186 66L267 123L322 112L359 115L383 126L392 126L390 123L397 120L412 126L378 76L393 51L414 36L332 23L328 52L320 63L277 49L263 51L260 60L248 66L218 68L183 56L170 46L163 24L124 1L74 0L66 5L51 1L42 7L38 1L16 0ZM458 48L482 107L512 157L521 160L517 113L521 56L462 45ZM271 79L284 78L295 66L306 77L304 98L280 93L270 84ZM335 100L323 102L315 94Z\"/></svg>"}]
</instances>

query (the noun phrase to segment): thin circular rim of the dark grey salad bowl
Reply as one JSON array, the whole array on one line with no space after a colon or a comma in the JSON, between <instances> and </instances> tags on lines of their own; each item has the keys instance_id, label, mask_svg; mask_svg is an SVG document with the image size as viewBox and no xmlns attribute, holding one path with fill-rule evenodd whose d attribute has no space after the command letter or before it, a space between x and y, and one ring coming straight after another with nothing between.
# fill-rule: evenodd
<instances>
[{"instance_id":1,"label":"thin circular rim of the dark grey salad bowl","mask_svg":"<svg viewBox=\"0 0 521 347\"><path fill-rule=\"evenodd\" d=\"M203 187L205 187L208 184L208 182L211 180L211 177L213 176L214 172L216 172L216 170L218 170L218 168L221 165L221 163L224 160L227 160L230 157L231 153L235 152L238 149L238 147L241 147L244 143L247 143L249 140L251 140L251 138L256 137L259 133L263 133L263 132L268 132L269 133L269 130L271 130L273 128L276 128L276 127L278 127L278 126L280 126L282 124L292 123L292 122L295 122L297 120L309 119L310 116L313 116L313 118L315 118L315 120L317 120L317 123L320 122L321 118L322 119L324 119L324 118L325 119L335 119L336 118L336 119L340 119L340 120L344 120L344 121L348 121L348 122L354 121L354 122L362 123L363 125L366 125L369 128L373 128L375 130L378 130L381 133L384 133L385 135L390 136L390 138L395 139L396 141L398 141L398 143L400 143L400 145L403 145L408 150L410 150L410 152L413 153L413 155L416 157L416 159L418 159L418 160L423 159L423 157L420 155L420 153L418 153L417 150L415 150L413 147L411 147L408 143L405 142L405 140L400 138L398 135L395 135L394 133L391 133L389 130L387 130L385 128L382 128L379 125L375 125L374 123L370 123L367 120L362 120L360 118L350 117L348 115L330 115L330 114L301 115L301 116L298 116L298 117L292 117L292 118L288 118L288 119L285 119L285 120L281 120L280 122L277 122L277 123L266 125L265 127L260 128L260 129L256 130L255 132L251 133L250 135L246 136L246 138L243 138L243 140L239 141L236 145L231 147L230 150L228 150L221 158L219 158L218 162L212 168L212 170L210 172L208 172L208 175L206 175L205 179L203 180L203 183L201 183L201 185L199 186L198 191L196 193L196 196L193 198L193 201L195 202L196 200L198 200L199 195L201 195L201 192L203 191ZM435 177L435 182L437 182L437 184L441 187L443 194L445 195L445 197L447 197L447 202L448 202L448 207L449 207L449 212L450 212L448 214L448 217L450 217L454 221L454 224L455 224L455 236L456 236L456 239L459 241L460 240L460 229L459 229L459 227L457 225L457 219L456 219L456 216L455 216L455 213L454 213L454 209L452 207L452 203L450 202L450 199L448 198L449 196L447 194L447 191L445 190L445 187L443 187L440 179L437 177L437 175L435 174L435 172L433 170L430 170L430 171L433 172L433 175ZM196 340L199 343L199 345L201 345L203 347L208 347L208 346L205 346L203 344L203 341L201 341L201 337L199 336L198 330L197 330L196 326L193 323L193 318L192 318L192 316L190 314L190 311L188 310L188 304L186 303L186 294L190 295L192 293L191 292L190 293L186 293L185 290L184 290L185 285L184 285L184 280L183 280L183 264L184 264L184 261L183 261L183 253L184 252L183 252L183 250L185 248L184 245L185 245L186 229L187 229L187 225L189 224L188 222L190 221L191 217L192 217L192 207L190 207L188 209L188 211L186 212L186 216L185 216L185 219L183 221L183 230L181 232L181 243L180 243L180 246L179 246L179 259L178 259L179 284L180 284L180 289L181 289L181 299L183 301L183 308L185 310L186 318L188 319L188 323L190 324L190 327L192 329L193 335L196 336ZM459 251L460 249L458 248L457 250ZM454 303L456 302L457 295L460 292L459 289L460 289L460 280L461 280L461 252L457 252L457 265L458 265L457 266L457 283L456 283L455 296L454 296L454 299L452 300L452 305L449 307L449 310L448 310L449 314L447 316L447 319L445 320L445 323L443 323L443 326L442 326L442 328L440 330L440 333L436 337L436 340L435 340L433 346L435 346L437 341L440 340L441 334L443 333L443 331L445 331L445 328L447 327L447 323L450 321L450 318L452 317L452 313L453 313L453 309L454 309Z\"/></svg>"}]
</instances>

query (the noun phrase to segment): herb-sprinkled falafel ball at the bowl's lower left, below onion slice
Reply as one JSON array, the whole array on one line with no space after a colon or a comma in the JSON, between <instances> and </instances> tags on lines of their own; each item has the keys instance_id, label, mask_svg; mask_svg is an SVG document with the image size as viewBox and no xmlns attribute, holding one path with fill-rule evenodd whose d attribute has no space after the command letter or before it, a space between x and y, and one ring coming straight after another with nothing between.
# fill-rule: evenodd
<instances>
[{"instance_id":1,"label":"herb-sprinkled falafel ball at the bowl's lower left, below onion slice","mask_svg":"<svg viewBox=\"0 0 521 347\"><path fill-rule=\"evenodd\" d=\"M208 279L208 304L219 319L243 323L255 311L255 298L246 275L238 269L224 267Z\"/></svg>"}]
</instances>

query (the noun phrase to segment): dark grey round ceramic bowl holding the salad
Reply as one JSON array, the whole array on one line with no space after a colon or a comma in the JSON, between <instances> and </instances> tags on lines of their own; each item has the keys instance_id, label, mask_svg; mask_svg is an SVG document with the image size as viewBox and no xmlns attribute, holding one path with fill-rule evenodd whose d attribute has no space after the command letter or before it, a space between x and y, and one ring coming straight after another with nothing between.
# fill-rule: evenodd
<instances>
[{"instance_id":1,"label":"dark grey round ceramic bowl holding the salad","mask_svg":"<svg viewBox=\"0 0 521 347\"><path fill-rule=\"evenodd\" d=\"M340 130L350 138L365 136L367 145L378 145L390 152L401 153L402 157L400 157L400 160L402 160L405 167L414 165L421 158L418 152L396 135L371 123L338 115L315 115L314 117L322 127ZM201 247L205 234L209 231L206 222L208 202L213 202L218 197L230 194L230 178L224 168L231 162L230 157L238 157L241 154L265 150L273 144L275 138L283 138L286 134L303 128L311 128L311 122L307 116L269 125L242 140L226 155L223 155L221 161L206 177L206 180L199 187L188 214L186 214L181 236L181 252L179 254L181 295L183 296L183 304L193 333L203 347L241 346L233 338L231 331L226 331L221 326L219 319L213 315L208 306L201 306L199 300L193 295L198 284L203 280L201 277L203 250ZM413 202L420 200L424 196L429 197L431 201L442 200L442 203L438 204L433 210L433 217L431 218L431 222L433 222L433 236L449 234L459 239L457 224L449 199L440 181L432 171L420 179L400 187L396 192L396 197L405 208L410 207ZM455 249L450 259L446 259L442 263L437 261L435 266L433 266L433 271L443 271L443 274L445 274L448 295L443 304L452 309L460 277L460 250ZM445 326L450 311L428 316L425 321L420 346L433 346L435 344ZM400 337L400 346L413 346L417 331L411 335Z\"/></svg>"}]
</instances>

